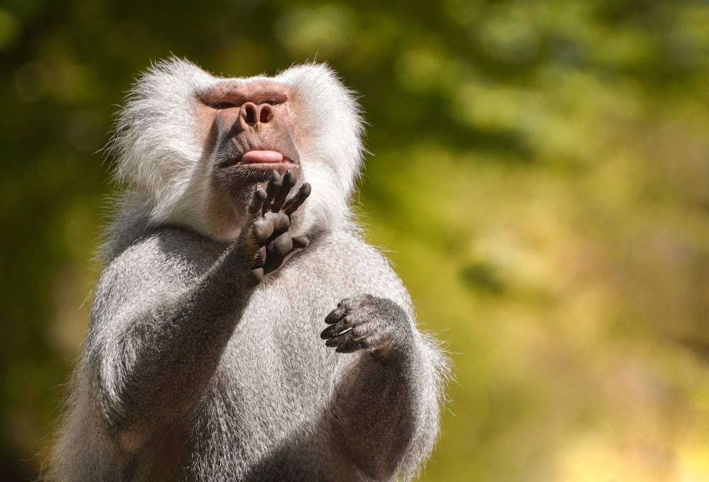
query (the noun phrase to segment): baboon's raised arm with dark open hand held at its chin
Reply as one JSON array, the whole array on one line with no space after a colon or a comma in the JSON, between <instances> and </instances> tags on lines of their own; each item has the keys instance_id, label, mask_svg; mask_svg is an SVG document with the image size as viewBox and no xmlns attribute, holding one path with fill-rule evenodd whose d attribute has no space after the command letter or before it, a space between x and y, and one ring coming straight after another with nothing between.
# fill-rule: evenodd
<instances>
[{"instance_id":1,"label":"baboon's raised arm with dark open hand held at its chin","mask_svg":"<svg viewBox=\"0 0 709 482\"><path fill-rule=\"evenodd\" d=\"M104 272L84 366L94 416L122 449L137 451L190 413L264 272L302 247L287 230L309 186L284 202L292 184L277 181L256 191L238 239L200 276L188 259L214 245L180 230L157 232Z\"/></svg>"}]
</instances>

